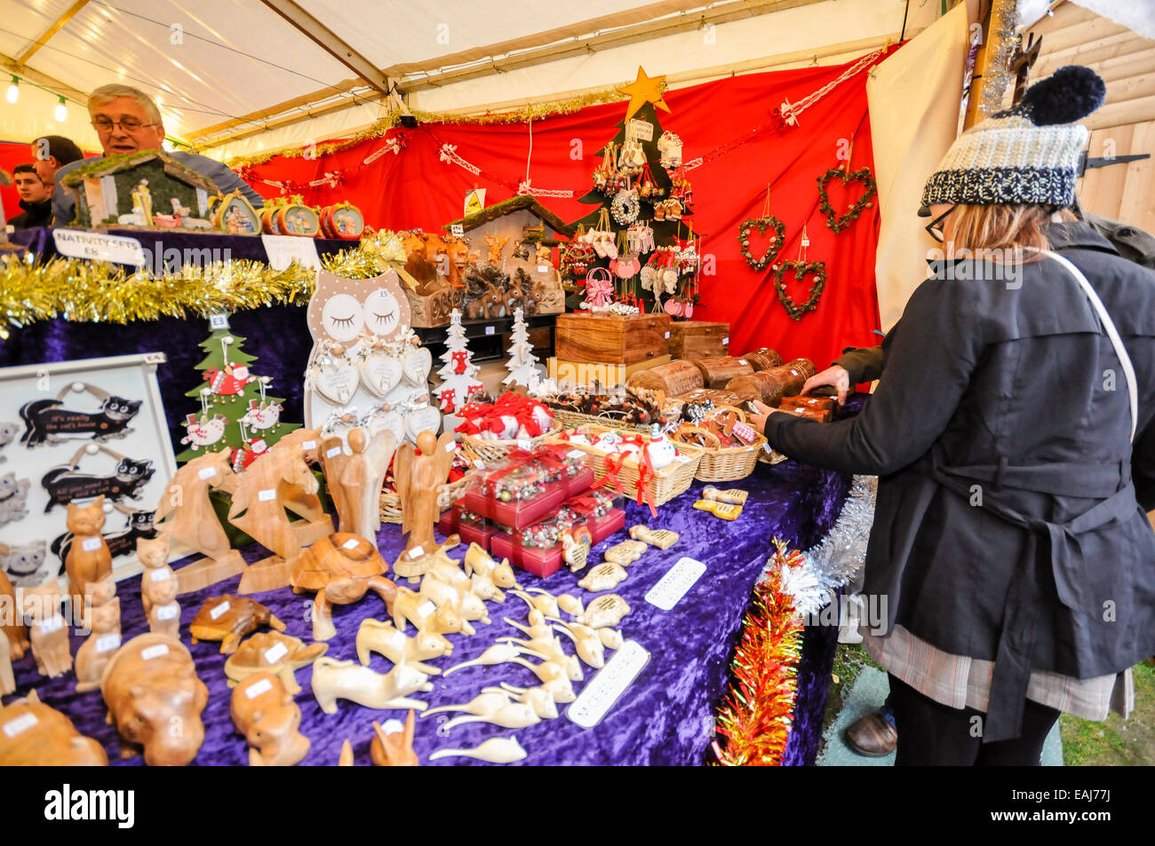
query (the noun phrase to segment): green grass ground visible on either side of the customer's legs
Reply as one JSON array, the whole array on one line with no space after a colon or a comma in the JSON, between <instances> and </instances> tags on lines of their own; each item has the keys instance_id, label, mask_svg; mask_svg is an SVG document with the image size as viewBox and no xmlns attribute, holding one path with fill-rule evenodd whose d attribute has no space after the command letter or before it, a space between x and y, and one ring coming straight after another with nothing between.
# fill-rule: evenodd
<instances>
[{"instance_id":1,"label":"green grass ground visible on either side of the customer's legs","mask_svg":"<svg viewBox=\"0 0 1155 846\"><path fill-rule=\"evenodd\" d=\"M830 692L822 714L824 731L837 718L843 699L863 667L878 665L862 646L839 644L834 653ZM1124 720L1113 713L1103 723L1091 723L1070 714L1059 718L1063 761L1066 766L1155 764L1155 666L1140 664L1134 669L1134 676L1135 710L1130 719Z\"/></svg>"}]
</instances>

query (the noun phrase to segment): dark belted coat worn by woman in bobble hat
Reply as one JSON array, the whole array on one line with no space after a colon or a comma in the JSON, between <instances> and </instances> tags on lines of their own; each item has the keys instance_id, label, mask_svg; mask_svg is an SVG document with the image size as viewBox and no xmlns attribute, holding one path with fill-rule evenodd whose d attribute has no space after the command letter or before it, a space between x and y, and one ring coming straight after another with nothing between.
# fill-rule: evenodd
<instances>
[{"instance_id":1,"label":"dark belted coat worn by woman in bobble hat","mask_svg":"<svg viewBox=\"0 0 1155 846\"><path fill-rule=\"evenodd\" d=\"M864 592L888 628L994 661L986 741L1016 736L1031 669L1088 679L1155 654L1155 274L1086 224L1048 234L1134 364L1133 448L1119 361L1051 259L1011 284L940 269L887 336L862 414L766 425L792 458L880 477Z\"/></svg>"}]
</instances>

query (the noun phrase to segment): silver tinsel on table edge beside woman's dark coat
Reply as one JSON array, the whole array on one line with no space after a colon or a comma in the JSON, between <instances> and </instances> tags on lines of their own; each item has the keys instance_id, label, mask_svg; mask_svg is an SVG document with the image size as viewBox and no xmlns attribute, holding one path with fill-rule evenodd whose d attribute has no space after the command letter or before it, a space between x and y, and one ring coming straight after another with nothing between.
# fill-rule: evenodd
<instances>
[{"instance_id":1,"label":"silver tinsel on table edge beside woman's dark coat","mask_svg":"<svg viewBox=\"0 0 1155 846\"><path fill-rule=\"evenodd\" d=\"M800 614L817 614L834 599L839 587L858 574L866 560L877 496L878 477L856 476L829 534L803 553L800 567L782 566L782 591L795 598L795 608ZM770 563L775 560L772 557Z\"/></svg>"}]
</instances>

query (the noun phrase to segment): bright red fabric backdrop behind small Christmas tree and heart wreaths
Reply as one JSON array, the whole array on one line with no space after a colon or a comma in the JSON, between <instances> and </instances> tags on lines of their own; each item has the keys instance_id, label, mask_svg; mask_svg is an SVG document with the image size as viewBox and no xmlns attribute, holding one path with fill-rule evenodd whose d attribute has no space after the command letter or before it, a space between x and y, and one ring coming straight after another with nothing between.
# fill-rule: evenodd
<instances>
[{"instance_id":1,"label":"bright red fabric backdrop behind small Christmas tree and heart wreaths","mask_svg":"<svg viewBox=\"0 0 1155 846\"><path fill-rule=\"evenodd\" d=\"M841 164L837 151L843 140L854 137L854 169L872 165L866 73L842 82L810 105L796 127L778 133L770 114L784 98L797 103L836 80L847 67L751 74L669 91L665 100L671 112L657 113L663 129L681 137L686 162L706 158L687 175L694 187L694 226L705 233L702 254L714 256L715 274L702 277L702 305L694 310L694 320L728 321L736 353L766 345L788 359L805 355L824 367L845 346L871 346L879 340L872 332L879 323L874 291L878 204L835 234L818 211L815 181ZM586 194L598 162L595 154L613 136L624 115L625 105L613 103L534 121L529 173L534 187L572 189L575 197ZM760 132L752 132L760 127ZM379 229L426 230L459 218L470 188L486 188L486 202L493 203L513 196L526 178L530 144L526 123L423 123L416 129L392 130L389 136L400 137L404 148L368 165L363 160L379 150L385 138L316 159L277 157L248 169L246 175L259 192L276 196L280 190L260 180L304 184L326 171L342 170L341 185L306 189L306 201L322 204L348 199ZM457 155L482 173L475 177L442 162L442 144L455 145ZM792 320L778 304L772 271L752 270L738 252L738 226L745 218L761 215L767 184L773 184L770 212L787 229L780 259L797 257L805 223L808 259L827 265L828 279L818 309L800 321ZM860 190L856 186L843 189L835 180L829 193L834 208L843 209ZM575 199L543 197L542 202L566 220L589 210ZM755 230L751 240L751 252L761 255L766 238ZM791 280L787 290L802 302L810 283L808 278L804 283Z\"/></svg>"}]
</instances>

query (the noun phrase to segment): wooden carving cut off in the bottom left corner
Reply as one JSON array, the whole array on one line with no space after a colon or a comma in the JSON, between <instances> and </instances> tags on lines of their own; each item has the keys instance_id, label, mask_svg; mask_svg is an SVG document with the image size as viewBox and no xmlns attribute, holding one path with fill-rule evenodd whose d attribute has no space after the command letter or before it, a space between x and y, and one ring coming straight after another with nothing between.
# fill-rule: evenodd
<instances>
[{"instance_id":1,"label":"wooden carving cut off in the bottom left corner","mask_svg":"<svg viewBox=\"0 0 1155 846\"><path fill-rule=\"evenodd\" d=\"M0 638L2 639L2 638ZM0 708L0 766L107 766L109 756L91 738L32 690Z\"/></svg>"}]
</instances>

